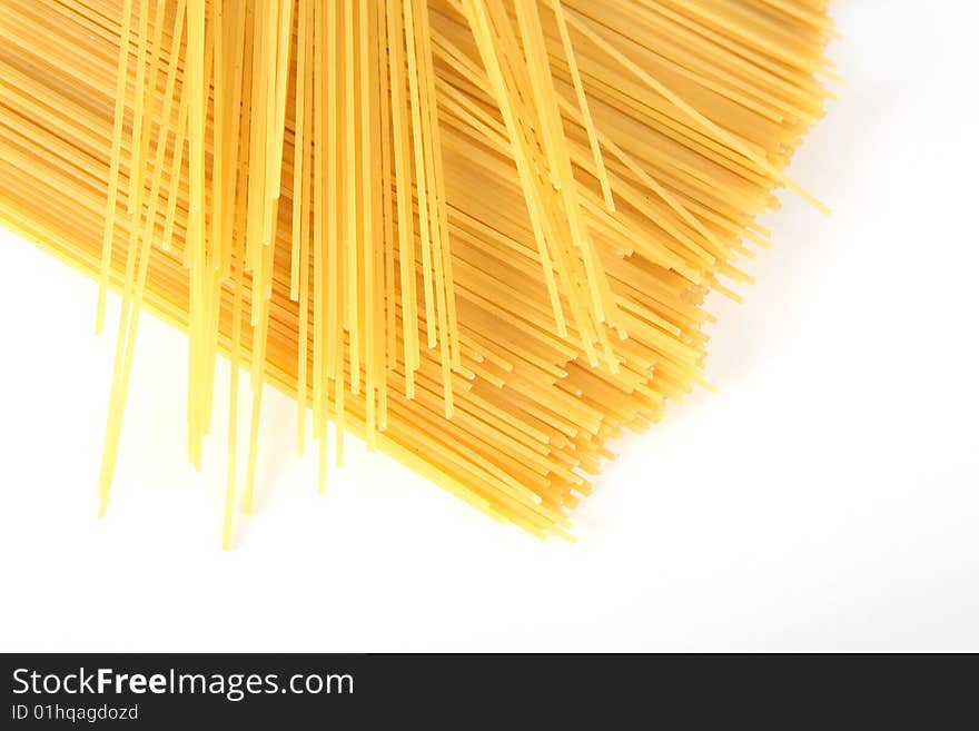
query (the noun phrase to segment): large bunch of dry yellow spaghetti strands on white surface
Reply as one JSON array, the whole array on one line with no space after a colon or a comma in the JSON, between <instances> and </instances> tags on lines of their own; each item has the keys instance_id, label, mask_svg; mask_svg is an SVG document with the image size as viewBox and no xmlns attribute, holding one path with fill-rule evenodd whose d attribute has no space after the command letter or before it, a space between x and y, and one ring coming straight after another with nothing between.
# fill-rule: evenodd
<instances>
[{"instance_id":1,"label":"large bunch of dry yellow spaghetti strands on white surface","mask_svg":"<svg viewBox=\"0 0 979 731\"><path fill-rule=\"evenodd\" d=\"M805 196L825 4L0 0L0 218L98 278L99 328L121 294L101 508L149 309L189 336L198 467L230 358L226 546L265 385L320 490L333 423L337 462L349 431L566 535L606 443L704 383L772 190Z\"/></svg>"}]
</instances>

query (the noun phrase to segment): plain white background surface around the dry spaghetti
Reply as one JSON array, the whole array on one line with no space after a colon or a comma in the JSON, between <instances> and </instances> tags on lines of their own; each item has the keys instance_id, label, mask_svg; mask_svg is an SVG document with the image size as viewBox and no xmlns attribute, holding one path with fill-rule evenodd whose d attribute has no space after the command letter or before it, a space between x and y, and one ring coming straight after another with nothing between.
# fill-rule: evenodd
<instances>
[{"instance_id":1,"label":"plain white background surface around the dry spaghetti","mask_svg":"<svg viewBox=\"0 0 979 731\"><path fill-rule=\"evenodd\" d=\"M221 552L222 419L196 475L186 340L151 318L98 520L113 336L0 231L0 649L979 650L979 11L833 7L848 85L791 170L833 216L783 196L745 304L711 303L720 395L621 445L576 545L358 443L317 498L275 394Z\"/></svg>"}]
</instances>

